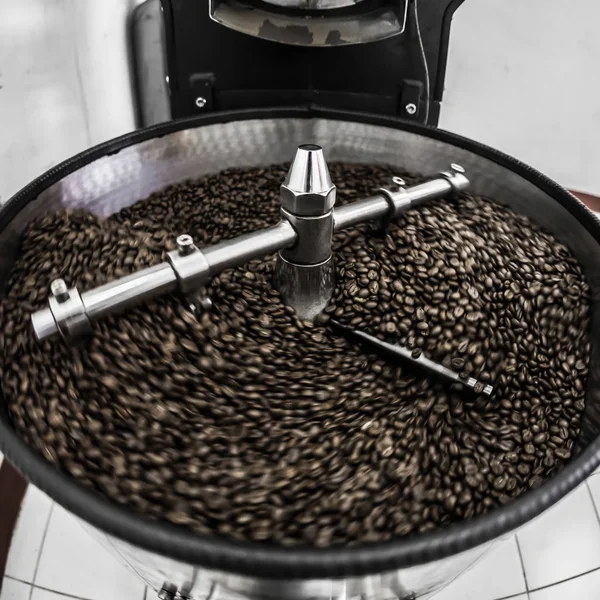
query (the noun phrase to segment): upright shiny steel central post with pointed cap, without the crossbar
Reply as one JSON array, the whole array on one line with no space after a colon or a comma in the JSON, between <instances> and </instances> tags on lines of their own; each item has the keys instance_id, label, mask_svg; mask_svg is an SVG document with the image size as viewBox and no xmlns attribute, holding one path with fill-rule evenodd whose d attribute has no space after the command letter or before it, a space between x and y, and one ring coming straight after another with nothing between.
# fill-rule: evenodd
<instances>
[{"instance_id":1,"label":"upright shiny steel central post with pointed cap, without the crossbar","mask_svg":"<svg viewBox=\"0 0 600 600\"><path fill-rule=\"evenodd\" d=\"M333 293L335 194L323 149L299 146L280 196L281 216L297 238L292 247L279 251L273 284L303 319L314 319Z\"/></svg>"}]
</instances>

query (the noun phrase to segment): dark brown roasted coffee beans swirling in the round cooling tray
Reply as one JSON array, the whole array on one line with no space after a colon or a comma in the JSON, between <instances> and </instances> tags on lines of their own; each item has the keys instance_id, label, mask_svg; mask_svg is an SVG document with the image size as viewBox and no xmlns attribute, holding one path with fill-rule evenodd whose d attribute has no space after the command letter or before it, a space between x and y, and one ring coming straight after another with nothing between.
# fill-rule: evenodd
<instances>
[{"instance_id":1,"label":"dark brown roasted coffee beans swirling in the round cooling tray","mask_svg":"<svg viewBox=\"0 0 600 600\"><path fill-rule=\"evenodd\" d=\"M339 204L392 175L330 168ZM35 340L53 279L86 290L163 260L178 234L203 246L274 224L285 172L231 169L106 220L31 224L0 305L2 390L24 439L147 516L284 545L428 531L552 476L584 408L589 288L565 246L479 197L336 234L337 287L315 323L282 303L266 257L215 277L198 319L172 295L73 347ZM494 393L385 362L333 333L332 316Z\"/></svg>"}]
</instances>

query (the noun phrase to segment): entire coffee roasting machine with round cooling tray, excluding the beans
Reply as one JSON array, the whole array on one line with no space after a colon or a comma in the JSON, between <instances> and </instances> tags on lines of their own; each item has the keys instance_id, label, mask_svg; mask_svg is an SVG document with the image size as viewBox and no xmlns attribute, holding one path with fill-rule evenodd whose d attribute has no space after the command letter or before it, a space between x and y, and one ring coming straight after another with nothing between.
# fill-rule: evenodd
<instances>
[{"instance_id":1,"label":"entire coffee roasting machine with round cooling tray, excluding the beans","mask_svg":"<svg viewBox=\"0 0 600 600\"><path fill-rule=\"evenodd\" d=\"M278 225L204 248L181 232L168 261L101 288L80 291L57 280L49 305L32 315L40 343L85 334L105 315L169 291L182 292L194 310L209 309L204 287L211 277L275 252L274 285L302 316L313 318L333 288L336 231L366 222L384 227L411 206L467 188L551 231L569 246L592 287L592 368L574 459L539 489L484 516L387 543L278 548L146 519L38 456L14 431L0 398L0 447L7 458L162 600L430 598L600 462L600 372L594 366L600 364L600 224L544 175L435 128L450 22L461 2L149 0L132 19L145 128L67 160L0 211L5 281L23 231L40 214L76 207L108 216L185 179L293 159L282 182ZM428 180L407 187L395 178L372 197L335 207L326 155L392 165Z\"/></svg>"}]
</instances>

